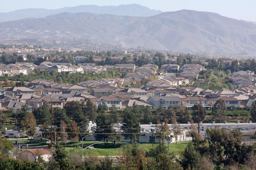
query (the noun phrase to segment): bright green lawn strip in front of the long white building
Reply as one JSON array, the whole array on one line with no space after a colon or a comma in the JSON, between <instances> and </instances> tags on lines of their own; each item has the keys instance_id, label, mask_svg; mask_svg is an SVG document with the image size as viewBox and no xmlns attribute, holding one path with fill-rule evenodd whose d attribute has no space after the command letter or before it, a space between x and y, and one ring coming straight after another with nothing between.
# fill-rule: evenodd
<instances>
[{"instance_id":1,"label":"bright green lawn strip in front of the long white building","mask_svg":"<svg viewBox=\"0 0 256 170\"><path fill-rule=\"evenodd\" d=\"M13 143L15 143L16 141L13 141ZM84 148L85 146L89 146L93 143L97 143L96 141L85 141L84 142ZM41 141L40 143L38 143L38 141L33 141L33 143L31 143L30 140L21 140L21 144L28 144L29 146L39 146L39 147L47 147L48 144L46 143L46 141ZM170 144L170 150L169 152L173 152L175 155L180 155L180 151L182 151L186 146L187 146L188 142L178 142L177 144L175 143L171 143ZM115 149L115 145L112 142L108 142L105 143L105 145L103 144L96 144L94 145L93 149L85 149L84 150L84 155L98 155L98 156L105 156L105 155L109 155L109 156L118 156L122 154L122 149L123 147L131 145L130 143L118 143L116 145L116 149ZM139 147L141 149L143 149L144 151L148 151L150 148L152 147L156 147L158 144L152 144L151 143L140 143ZM168 144L165 144L166 147L168 147ZM82 146L81 142L72 142L72 141L68 141L66 143L66 150L68 152L74 150L74 148L80 148ZM26 147L23 147L22 151L25 151ZM14 149L15 151L15 149Z\"/></svg>"}]
</instances>

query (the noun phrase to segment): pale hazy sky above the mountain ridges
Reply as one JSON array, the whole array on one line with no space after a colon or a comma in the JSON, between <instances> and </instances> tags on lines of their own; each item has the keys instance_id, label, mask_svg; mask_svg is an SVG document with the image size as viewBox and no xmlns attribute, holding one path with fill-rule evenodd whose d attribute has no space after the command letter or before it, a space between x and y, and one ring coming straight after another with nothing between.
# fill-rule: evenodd
<instances>
[{"instance_id":1,"label":"pale hazy sky above the mountain ridges","mask_svg":"<svg viewBox=\"0 0 256 170\"><path fill-rule=\"evenodd\" d=\"M0 12L24 8L56 9L77 5L120 5L137 3L161 11L191 9L256 21L256 0L0 0Z\"/></svg>"}]
</instances>

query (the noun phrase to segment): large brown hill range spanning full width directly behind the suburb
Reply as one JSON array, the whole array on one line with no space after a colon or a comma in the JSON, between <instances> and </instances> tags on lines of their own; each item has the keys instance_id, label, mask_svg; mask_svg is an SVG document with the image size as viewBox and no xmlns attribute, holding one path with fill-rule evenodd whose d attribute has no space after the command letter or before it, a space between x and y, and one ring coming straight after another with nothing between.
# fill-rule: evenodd
<instances>
[{"instance_id":1,"label":"large brown hill range spanning full width directly behind the suburb","mask_svg":"<svg viewBox=\"0 0 256 170\"><path fill-rule=\"evenodd\" d=\"M0 43L6 42L252 54L256 53L256 25L191 10L151 17L61 13L0 23Z\"/></svg>"}]
</instances>

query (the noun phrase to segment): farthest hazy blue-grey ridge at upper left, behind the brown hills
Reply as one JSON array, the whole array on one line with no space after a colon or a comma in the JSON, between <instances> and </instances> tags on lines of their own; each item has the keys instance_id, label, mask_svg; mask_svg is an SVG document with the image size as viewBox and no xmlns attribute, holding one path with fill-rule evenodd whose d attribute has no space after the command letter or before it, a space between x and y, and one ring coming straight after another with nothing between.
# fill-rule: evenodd
<instances>
[{"instance_id":1,"label":"farthest hazy blue-grey ridge at upper left, behind the brown hills","mask_svg":"<svg viewBox=\"0 0 256 170\"><path fill-rule=\"evenodd\" d=\"M0 22L12 21L24 18L41 18L60 13L94 13L94 14L112 14L117 16L137 16L149 17L162 13L162 11L151 10L138 4L128 4L119 6L97 6L80 5L75 7L65 7L60 9L29 8L21 9L8 13L0 13Z\"/></svg>"}]
</instances>

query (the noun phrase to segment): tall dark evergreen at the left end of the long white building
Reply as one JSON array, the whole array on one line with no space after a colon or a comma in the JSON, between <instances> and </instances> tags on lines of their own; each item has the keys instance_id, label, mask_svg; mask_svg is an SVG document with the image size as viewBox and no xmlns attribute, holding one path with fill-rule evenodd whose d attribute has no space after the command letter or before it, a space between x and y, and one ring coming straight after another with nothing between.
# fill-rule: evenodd
<instances>
[{"instance_id":1,"label":"tall dark evergreen at the left end of the long white building","mask_svg":"<svg viewBox=\"0 0 256 170\"><path fill-rule=\"evenodd\" d=\"M97 127L95 129L95 133L99 135L96 135L97 140L104 140L110 136L109 133L113 133L113 121L110 117L110 115L106 115L104 113L101 113L95 120ZM106 134L106 135L105 135Z\"/></svg>"}]
</instances>

